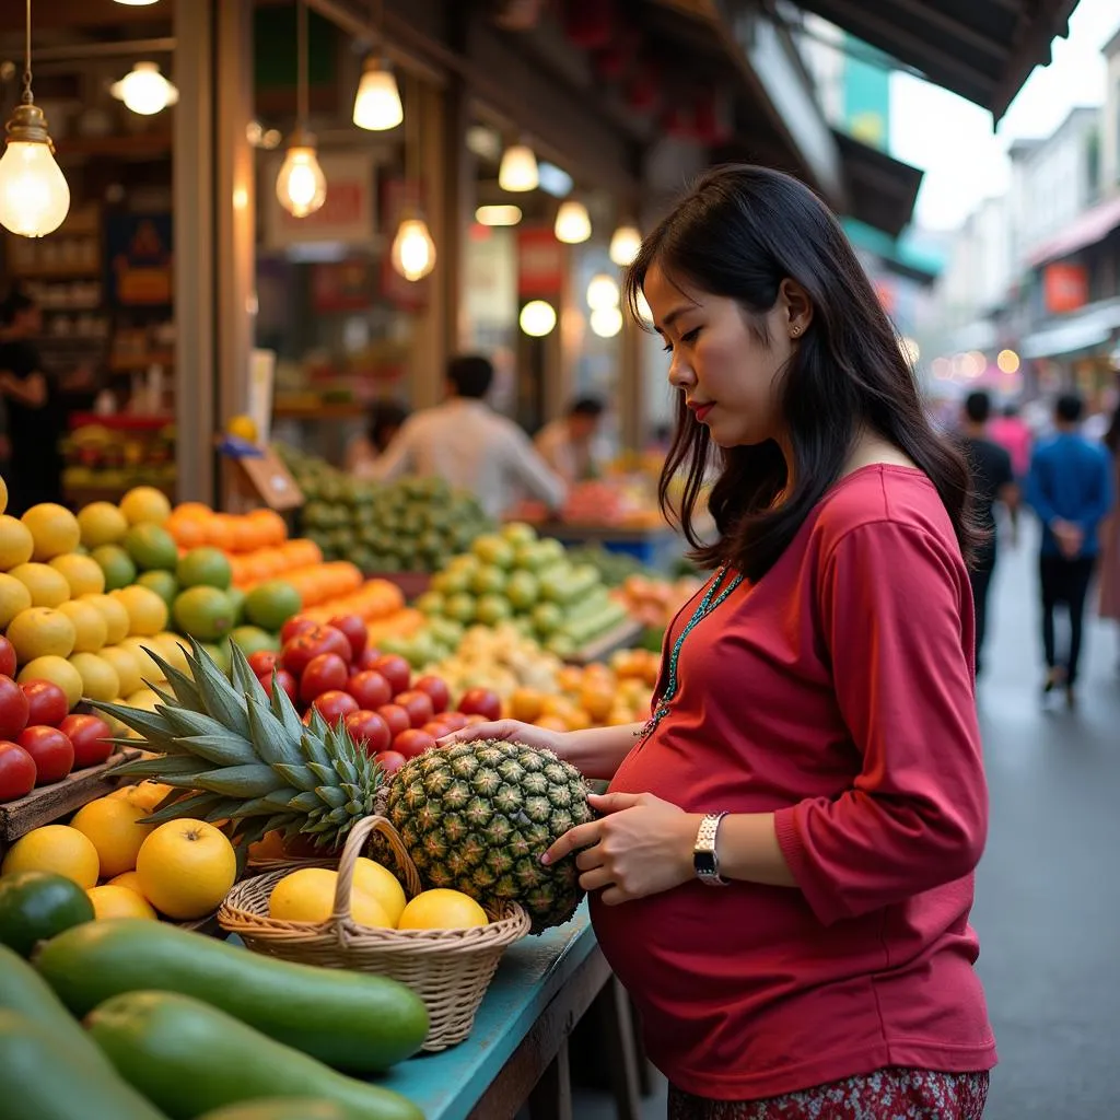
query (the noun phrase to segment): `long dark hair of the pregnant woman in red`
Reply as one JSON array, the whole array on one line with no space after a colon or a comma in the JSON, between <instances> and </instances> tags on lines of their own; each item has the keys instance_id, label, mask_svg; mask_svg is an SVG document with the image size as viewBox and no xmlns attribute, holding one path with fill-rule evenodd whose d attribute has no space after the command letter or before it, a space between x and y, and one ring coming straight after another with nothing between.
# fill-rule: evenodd
<instances>
[{"instance_id":1,"label":"long dark hair of the pregnant woman in red","mask_svg":"<svg viewBox=\"0 0 1120 1120\"><path fill-rule=\"evenodd\" d=\"M657 264L678 282L737 300L753 329L785 279L805 289L812 321L781 386L780 407L793 456L773 441L722 450L708 508L719 540L694 529L704 474L716 450L708 429L678 402L676 430L661 474L662 511L676 520L692 558L730 563L758 580L782 556L813 506L840 477L861 426L896 445L928 475L968 559L978 541L968 463L936 435L914 372L840 224L803 184L780 171L732 165L708 171L645 239L626 277L637 314L646 273ZM670 485L687 467L679 508Z\"/></svg>"}]
</instances>

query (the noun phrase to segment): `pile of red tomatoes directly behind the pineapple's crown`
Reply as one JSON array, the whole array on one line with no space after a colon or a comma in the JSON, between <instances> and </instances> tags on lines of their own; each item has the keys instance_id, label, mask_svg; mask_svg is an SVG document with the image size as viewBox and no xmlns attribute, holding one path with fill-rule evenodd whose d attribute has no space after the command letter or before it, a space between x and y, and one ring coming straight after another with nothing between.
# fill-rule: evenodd
<instances>
[{"instance_id":1,"label":"pile of red tomatoes directly behind the pineapple's crown","mask_svg":"<svg viewBox=\"0 0 1120 1120\"><path fill-rule=\"evenodd\" d=\"M280 632L280 653L249 659L264 690L282 688L309 722L318 713L332 727L345 724L351 738L383 769L436 746L445 735L498 719L502 701L488 689L472 689L450 710L447 683L438 676L412 680L409 663L368 645L357 615L337 615L320 625L304 615Z\"/></svg>"}]
</instances>

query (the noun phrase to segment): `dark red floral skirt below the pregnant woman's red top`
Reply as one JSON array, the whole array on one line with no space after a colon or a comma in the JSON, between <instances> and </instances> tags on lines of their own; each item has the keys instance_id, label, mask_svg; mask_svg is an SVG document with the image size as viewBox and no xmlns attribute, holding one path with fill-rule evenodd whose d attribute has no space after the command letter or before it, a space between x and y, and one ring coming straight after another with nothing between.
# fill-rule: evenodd
<instances>
[{"instance_id":1,"label":"dark red floral skirt below the pregnant woman's red top","mask_svg":"<svg viewBox=\"0 0 1120 1120\"><path fill-rule=\"evenodd\" d=\"M764 1101L669 1089L669 1120L980 1120L987 1073L889 1068Z\"/></svg>"}]
</instances>

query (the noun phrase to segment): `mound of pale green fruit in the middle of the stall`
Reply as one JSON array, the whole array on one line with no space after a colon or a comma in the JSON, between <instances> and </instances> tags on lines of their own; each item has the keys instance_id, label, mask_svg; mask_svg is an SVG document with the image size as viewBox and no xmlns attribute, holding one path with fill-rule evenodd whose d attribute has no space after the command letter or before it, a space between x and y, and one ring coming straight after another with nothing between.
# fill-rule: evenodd
<instances>
[{"instance_id":1,"label":"mound of pale green fruit in the middle of the stall","mask_svg":"<svg viewBox=\"0 0 1120 1120\"><path fill-rule=\"evenodd\" d=\"M463 625L513 619L560 657L626 619L596 568L572 564L559 541L521 523L479 536L435 576L417 606Z\"/></svg>"}]
</instances>

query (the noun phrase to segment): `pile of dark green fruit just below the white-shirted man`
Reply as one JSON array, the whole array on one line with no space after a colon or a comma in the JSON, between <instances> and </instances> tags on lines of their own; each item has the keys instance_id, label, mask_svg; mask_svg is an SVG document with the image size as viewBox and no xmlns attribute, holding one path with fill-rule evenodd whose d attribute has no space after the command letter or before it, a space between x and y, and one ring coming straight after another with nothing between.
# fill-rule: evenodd
<instances>
[{"instance_id":1,"label":"pile of dark green fruit just below the white-shirted man","mask_svg":"<svg viewBox=\"0 0 1120 1120\"><path fill-rule=\"evenodd\" d=\"M304 492L304 533L328 559L362 571L437 571L493 529L473 494L438 478L367 482L295 448L277 450Z\"/></svg>"}]
</instances>

